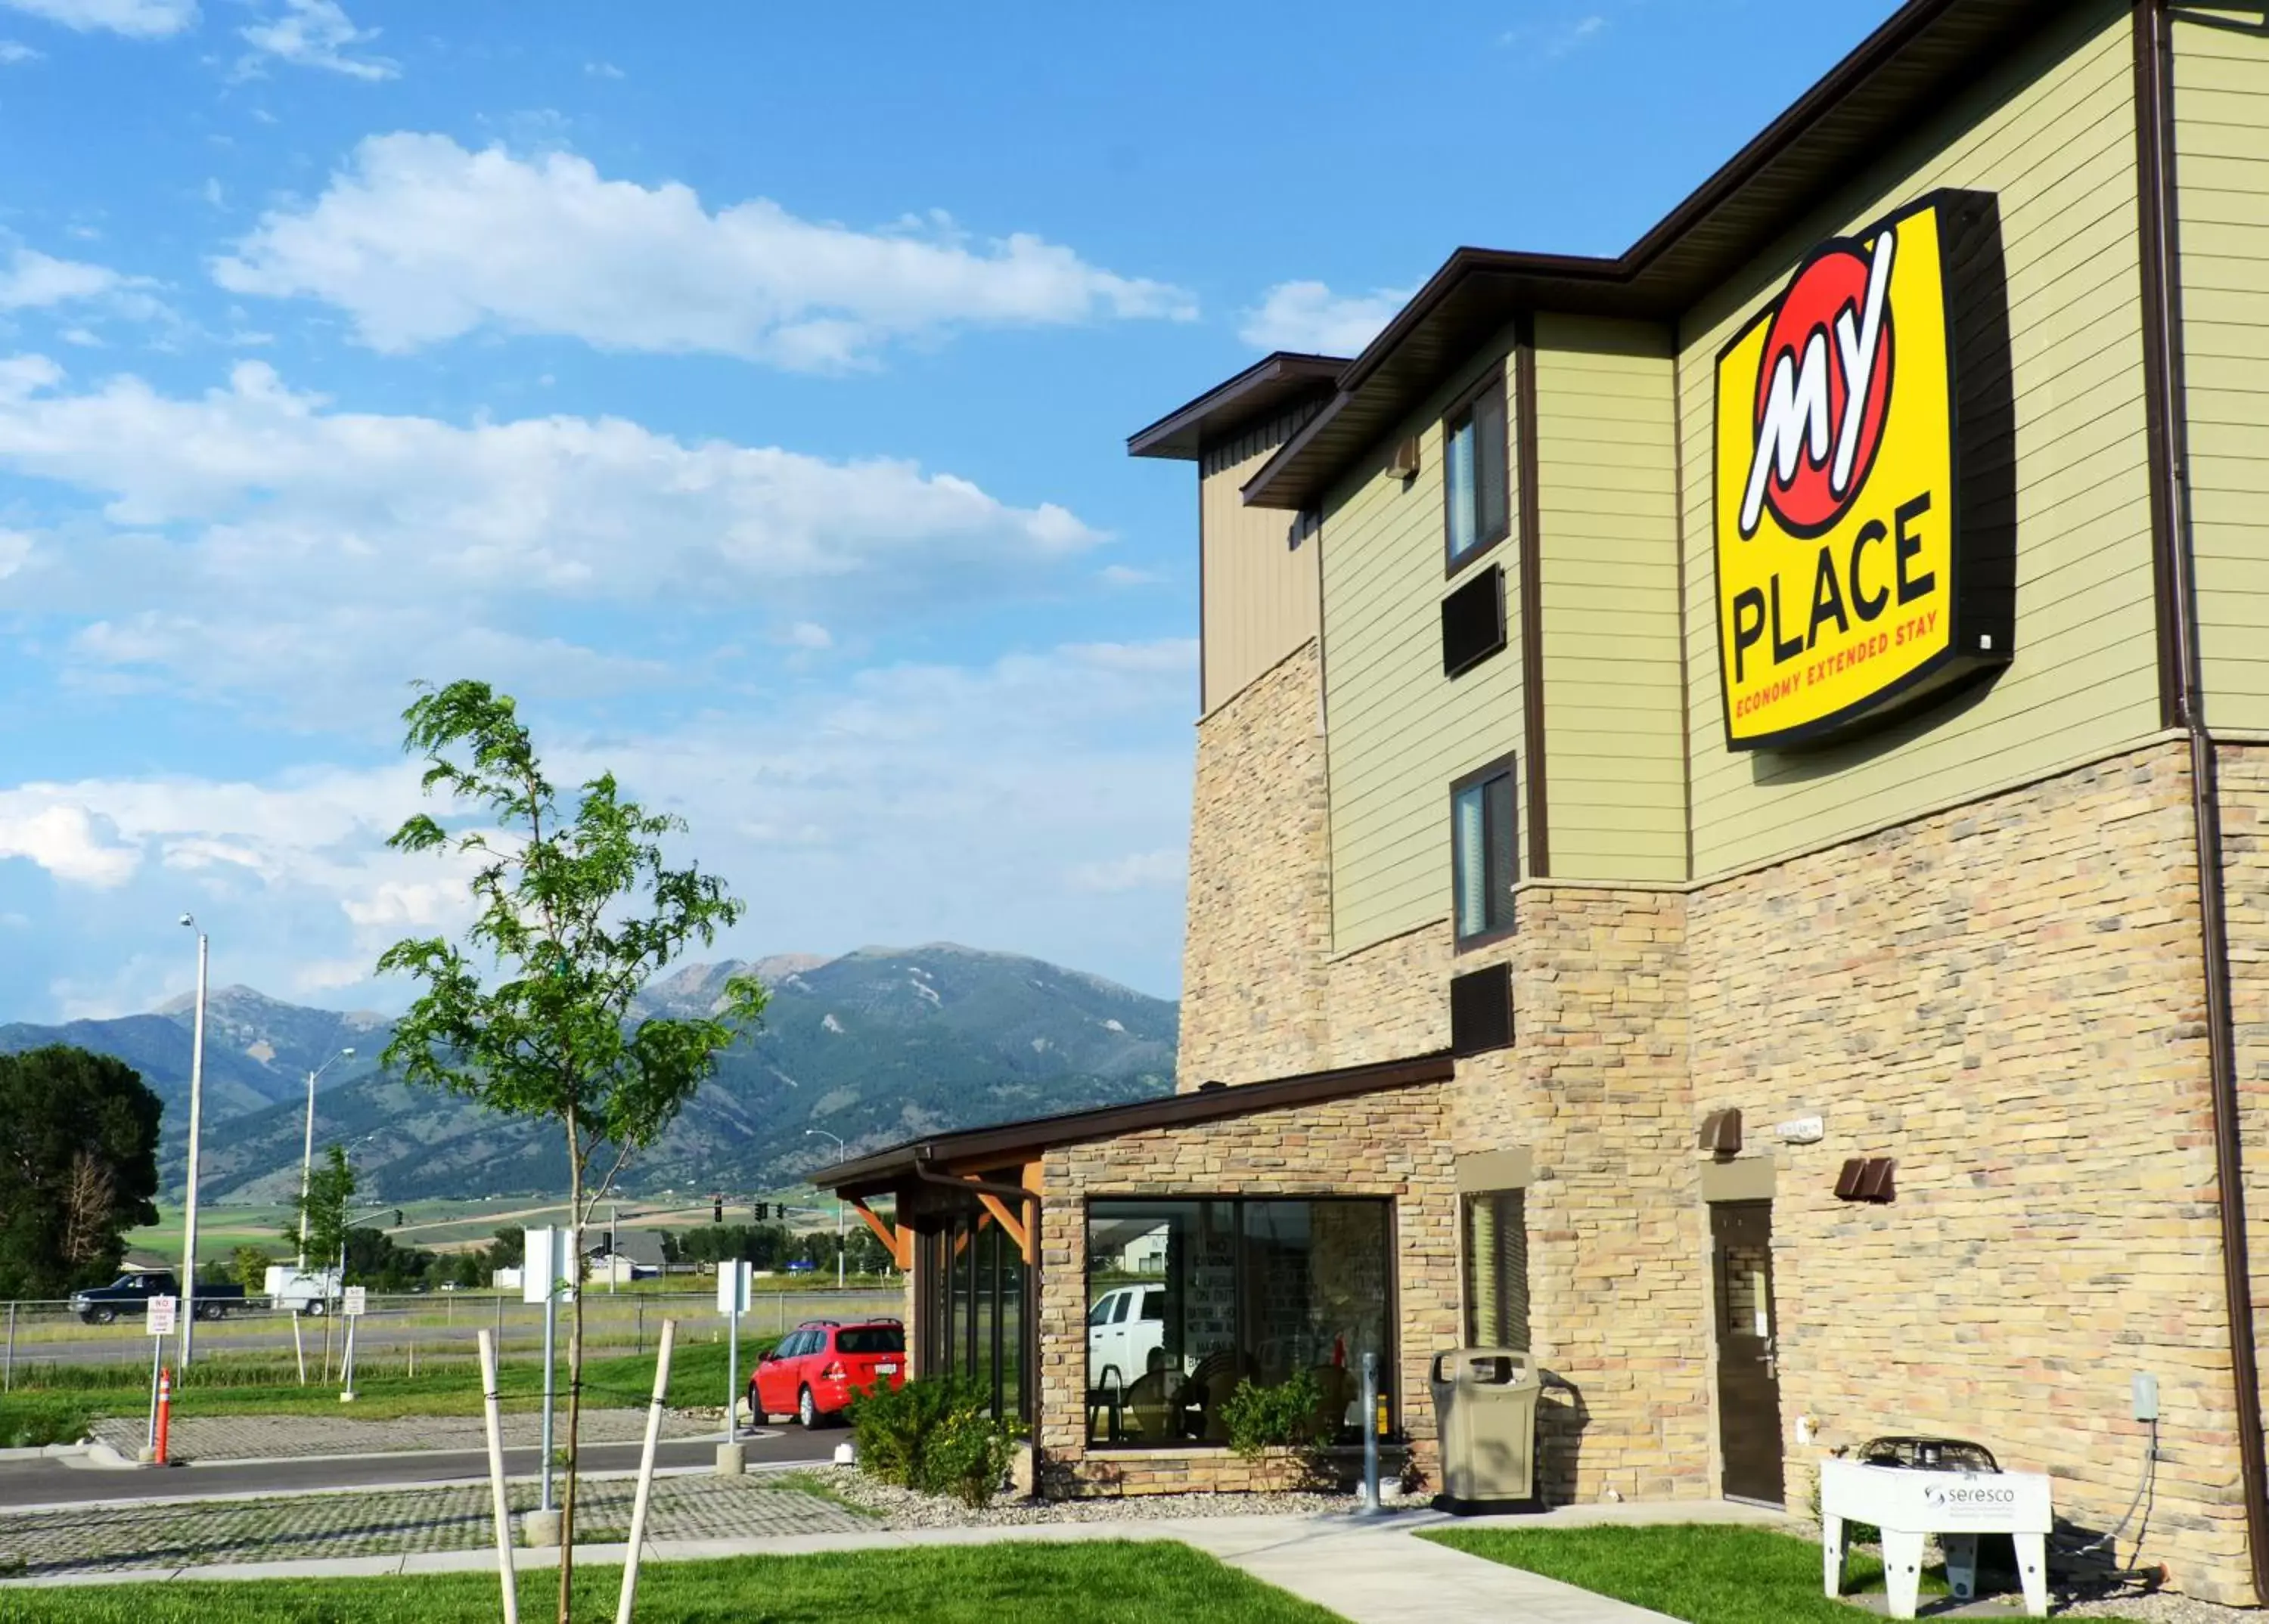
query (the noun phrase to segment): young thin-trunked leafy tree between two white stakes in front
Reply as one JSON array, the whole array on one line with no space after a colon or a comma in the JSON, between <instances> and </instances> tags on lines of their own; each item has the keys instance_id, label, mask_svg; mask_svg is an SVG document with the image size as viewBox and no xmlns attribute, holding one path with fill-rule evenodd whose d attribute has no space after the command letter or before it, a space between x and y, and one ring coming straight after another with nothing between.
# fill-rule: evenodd
<instances>
[{"instance_id":1,"label":"young thin-trunked leafy tree between two white stakes in front","mask_svg":"<svg viewBox=\"0 0 2269 1624\"><path fill-rule=\"evenodd\" d=\"M624 1161L676 1118L717 1055L765 1012L765 989L735 975L706 1018L635 1018L647 982L690 946L710 946L742 905L699 866L672 869L663 837L685 823L624 801L613 773L570 807L545 778L511 696L486 683L424 687L402 719L427 758L427 794L479 807L492 828L452 835L408 819L395 851L472 857L465 946L397 941L381 975L424 984L386 1046L413 1082L549 1120L567 1143L576 1229ZM492 978L492 980L490 980ZM567 1331L567 1483L560 1499L558 1619L574 1570L576 1429L583 1399L583 1293Z\"/></svg>"}]
</instances>

